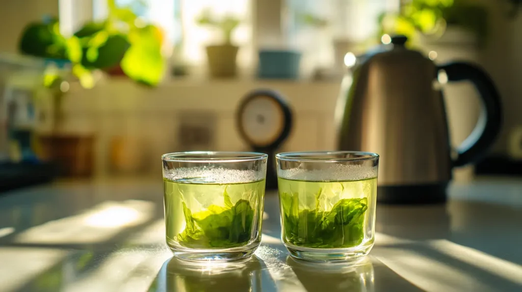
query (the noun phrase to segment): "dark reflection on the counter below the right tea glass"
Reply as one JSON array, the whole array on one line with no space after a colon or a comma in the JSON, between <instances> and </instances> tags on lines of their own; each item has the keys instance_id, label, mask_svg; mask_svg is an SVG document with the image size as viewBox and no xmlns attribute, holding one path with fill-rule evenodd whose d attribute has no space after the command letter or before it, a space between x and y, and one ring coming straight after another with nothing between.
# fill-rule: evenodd
<instances>
[{"instance_id":1,"label":"dark reflection on the counter below the right tea glass","mask_svg":"<svg viewBox=\"0 0 522 292\"><path fill-rule=\"evenodd\" d=\"M373 264L367 258L348 264L305 262L288 256L287 264L309 292L374 291Z\"/></svg>"}]
</instances>

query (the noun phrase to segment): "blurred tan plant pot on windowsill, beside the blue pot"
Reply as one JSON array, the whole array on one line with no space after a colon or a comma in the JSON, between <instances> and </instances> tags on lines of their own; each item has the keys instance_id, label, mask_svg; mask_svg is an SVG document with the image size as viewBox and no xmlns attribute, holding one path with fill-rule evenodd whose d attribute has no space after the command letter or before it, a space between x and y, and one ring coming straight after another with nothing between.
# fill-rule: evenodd
<instances>
[{"instance_id":1,"label":"blurred tan plant pot on windowsill, beside the blue pot","mask_svg":"<svg viewBox=\"0 0 522 292\"><path fill-rule=\"evenodd\" d=\"M233 45L207 46L210 75L215 78L235 77L239 47Z\"/></svg>"}]
</instances>

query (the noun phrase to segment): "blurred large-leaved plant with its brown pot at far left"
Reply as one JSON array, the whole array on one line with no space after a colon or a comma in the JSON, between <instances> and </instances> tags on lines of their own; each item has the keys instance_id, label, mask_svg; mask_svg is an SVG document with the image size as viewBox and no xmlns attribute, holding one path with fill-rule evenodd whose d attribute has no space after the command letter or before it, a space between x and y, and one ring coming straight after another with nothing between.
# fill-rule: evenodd
<instances>
[{"instance_id":1,"label":"blurred large-leaved plant with its brown pot at far left","mask_svg":"<svg viewBox=\"0 0 522 292\"><path fill-rule=\"evenodd\" d=\"M22 33L20 52L45 58L43 73L52 95L52 130L38 137L40 156L55 162L62 175L93 173L94 135L64 132L63 103L72 73L85 88L94 86L93 72L125 75L139 84L157 85L164 73L161 31L128 7L108 1L109 16L85 24L73 36L60 34L55 19L30 23Z\"/></svg>"}]
</instances>

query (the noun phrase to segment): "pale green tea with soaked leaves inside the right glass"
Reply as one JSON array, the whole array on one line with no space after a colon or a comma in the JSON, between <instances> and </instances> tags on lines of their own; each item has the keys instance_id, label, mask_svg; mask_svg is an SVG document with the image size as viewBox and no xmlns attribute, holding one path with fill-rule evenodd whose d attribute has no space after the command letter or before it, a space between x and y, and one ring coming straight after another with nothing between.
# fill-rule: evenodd
<instances>
[{"instance_id":1,"label":"pale green tea with soaked leaves inside the right glass","mask_svg":"<svg viewBox=\"0 0 522 292\"><path fill-rule=\"evenodd\" d=\"M309 248L349 248L363 243L375 218L377 179L314 182L278 179L282 237ZM374 208L374 207L372 207ZM370 236L367 236L370 237Z\"/></svg>"}]
</instances>

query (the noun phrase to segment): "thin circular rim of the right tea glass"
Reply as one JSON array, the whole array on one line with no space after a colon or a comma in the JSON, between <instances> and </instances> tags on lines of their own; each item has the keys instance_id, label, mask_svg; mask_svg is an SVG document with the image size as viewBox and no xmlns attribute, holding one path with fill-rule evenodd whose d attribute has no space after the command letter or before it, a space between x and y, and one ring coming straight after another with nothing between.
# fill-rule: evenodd
<instances>
[{"instance_id":1,"label":"thin circular rim of the right tea glass","mask_svg":"<svg viewBox=\"0 0 522 292\"><path fill-rule=\"evenodd\" d=\"M353 154L358 157L321 157L328 155ZM294 162L346 162L376 160L379 155L365 151L302 151L302 152L283 152L276 154L276 158L283 161Z\"/></svg>"}]
</instances>

